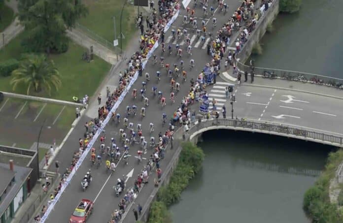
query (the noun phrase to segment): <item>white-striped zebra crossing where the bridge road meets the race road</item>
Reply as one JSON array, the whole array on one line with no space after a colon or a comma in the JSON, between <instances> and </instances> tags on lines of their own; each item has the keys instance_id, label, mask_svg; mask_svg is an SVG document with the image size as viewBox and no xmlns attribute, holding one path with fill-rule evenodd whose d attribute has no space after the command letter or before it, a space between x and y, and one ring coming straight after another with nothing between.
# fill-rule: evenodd
<instances>
[{"instance_id":1,"label":"white-striped zebra crossing where the bridge road meets the race road","mask_svg":"<svg viewBox=\"0 0 343 223\"><path fill-rule=\"evenodd\" d=\"M221 81L217 81L212 89L209 91L208 94L208 100L210 101L209 104L210 106L208 107L209 111L212 111L213 109L213 104L212 104L212 100L213 98L217 101L216 103L216 107L217 107L217 111L220 111L221 107L225 104L227 98L226 98L226 94L225 94L225 88L228 86L235 86L234 84L230 84L228 82L221 82Z\"/></svg>"}]
</instances>

